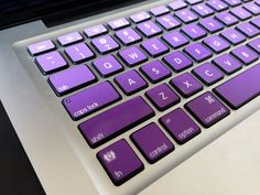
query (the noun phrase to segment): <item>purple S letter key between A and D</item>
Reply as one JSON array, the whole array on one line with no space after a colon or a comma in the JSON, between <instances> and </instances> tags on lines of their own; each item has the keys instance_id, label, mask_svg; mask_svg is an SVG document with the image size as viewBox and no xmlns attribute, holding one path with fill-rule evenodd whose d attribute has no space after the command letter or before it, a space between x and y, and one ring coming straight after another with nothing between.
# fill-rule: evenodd
<instances>
[{"instance_id":1,"label":"purple S letter key between A and D","mask_svg":"<svg viewBox=\"0 0 260 195\"><path fill-rule=\"evenodd\" d=\"M172 75L172 73L158 59L143 65L140 69L151 83L161 82Z\"/></svg>"}]
</instances>

